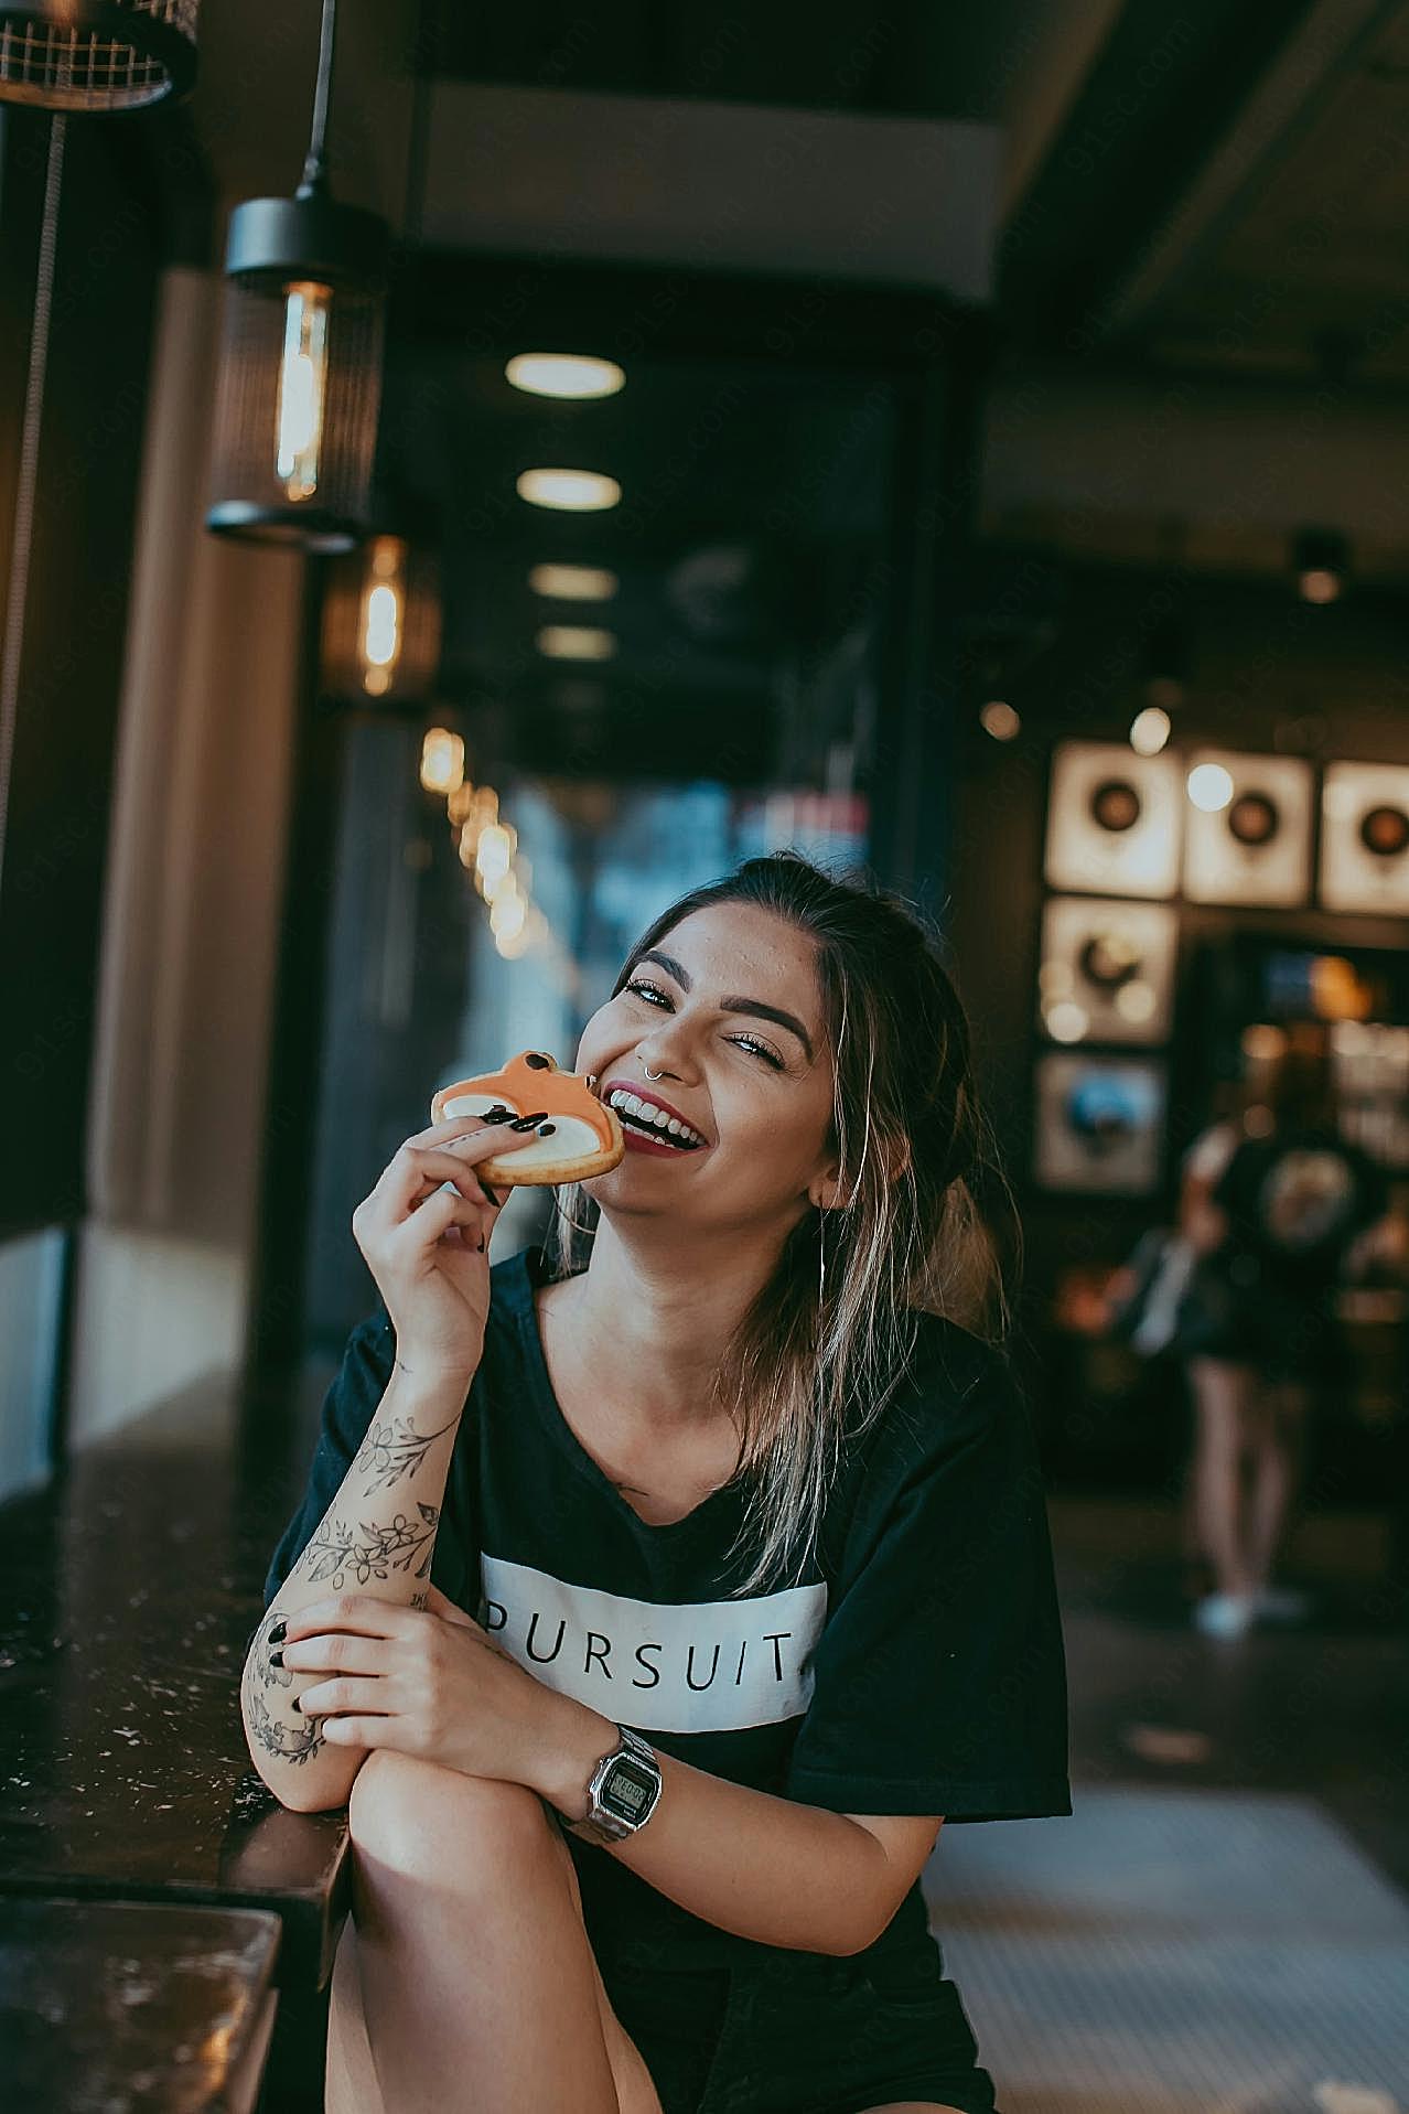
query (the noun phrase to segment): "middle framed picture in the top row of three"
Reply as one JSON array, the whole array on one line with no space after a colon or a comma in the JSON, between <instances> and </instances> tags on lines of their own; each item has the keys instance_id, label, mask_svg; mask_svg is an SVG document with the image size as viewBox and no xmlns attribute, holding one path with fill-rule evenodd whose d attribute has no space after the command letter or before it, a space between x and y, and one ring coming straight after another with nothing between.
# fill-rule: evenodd
<instances>
[{"instance_id":1,"label":"middle framed picture in the top row of three","mask_svg":"<svg viewBox=\"0 0 1409 2114\"><path fill-rule=\"evenodd\" d=\"M1312 765L1196 748L1189 757L1183 892L1189 903L1305 903L1312 890Z\"/></svg>"}]
</instances>

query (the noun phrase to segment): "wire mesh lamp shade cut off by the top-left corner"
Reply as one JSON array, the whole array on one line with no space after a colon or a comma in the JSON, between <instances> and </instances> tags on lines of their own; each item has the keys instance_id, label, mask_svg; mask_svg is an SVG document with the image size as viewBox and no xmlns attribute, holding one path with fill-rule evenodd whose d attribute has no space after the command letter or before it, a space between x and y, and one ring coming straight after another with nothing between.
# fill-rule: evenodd
<instances>
[{"instance_id":1,"label":"wire mesh lamp shade cut off by the top-left corner","mask_svg":"<svg viewBox=\"0 0 1409 2114\"><path fill-rule=\"evenodd\" d=\"M201 0L0 4L0 101L142 110L196 78Z\"/></svg>"}]
</instances>

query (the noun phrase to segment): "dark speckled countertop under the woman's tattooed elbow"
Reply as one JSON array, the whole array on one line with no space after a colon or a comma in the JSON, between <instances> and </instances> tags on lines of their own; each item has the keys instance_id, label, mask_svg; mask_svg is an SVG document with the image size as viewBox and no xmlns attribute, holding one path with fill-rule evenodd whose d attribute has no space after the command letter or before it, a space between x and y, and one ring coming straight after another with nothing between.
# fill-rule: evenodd
<instances>
[{"instance_id":1,"label":"dark speckled countertop under the woman's tattooed elbow","mask_svg":"<svg viewBox=\"0 0 1409 2114\"><path fill-rule=\"evenodd\" d=\"M294 1814L239 1710L319 1383L237 1416L188 1389L0 1507L0 1890L277 1909L281 1983L323 1985L346 1814Z\"/></svg>"}]
</instances>

